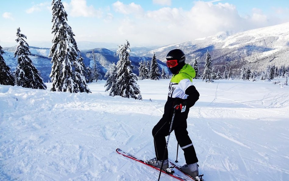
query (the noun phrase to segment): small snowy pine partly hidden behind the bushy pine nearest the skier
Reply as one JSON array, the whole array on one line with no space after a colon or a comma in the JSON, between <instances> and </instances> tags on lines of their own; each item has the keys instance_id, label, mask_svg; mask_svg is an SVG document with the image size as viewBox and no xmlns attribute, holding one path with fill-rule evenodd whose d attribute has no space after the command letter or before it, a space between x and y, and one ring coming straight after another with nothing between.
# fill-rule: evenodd
<instances>
[{"instance_id":1,"label":"small snowy pine partly hidden behind the bushy pine nearest the skier","mask_svg":"<svg viewBox=\"0 0 289 181\"><path fill-rule=\"evenodd\" d=\"M117 89L116 88L116 64L112 63L109 65L109 68L107 72L105 73L105 78L107 78L106 83L105 83L105 92L109 91L109 96L115 96L114 91Z\"/></svg>"}]
</instances>

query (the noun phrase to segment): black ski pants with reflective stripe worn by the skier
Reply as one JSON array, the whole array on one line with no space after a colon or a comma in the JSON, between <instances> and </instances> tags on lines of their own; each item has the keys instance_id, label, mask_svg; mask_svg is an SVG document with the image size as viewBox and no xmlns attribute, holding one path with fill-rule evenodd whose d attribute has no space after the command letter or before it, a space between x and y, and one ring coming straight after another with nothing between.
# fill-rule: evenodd
<instances>
[{"instance_id":1,"label":"black ski pants with reflective stripe worn by the skier","mask_svg":"<svg viewBox=\"0 0 289 181\"><path fill-rule=\"evenodd\" d=\"M184 151L184 157L187 164L192 164L198 162L198 158L192 144L192 141L187 132L187 114L189 109L183 113L176 111L172 131L174 130L176 139ZM155 145L155 156L157 160L168 159L168 150L166 148L166 136L169 135L170 122L172 120L172 115L163 117L152 129L152 136L154 137Z\"/></svg>"}]
</instances>

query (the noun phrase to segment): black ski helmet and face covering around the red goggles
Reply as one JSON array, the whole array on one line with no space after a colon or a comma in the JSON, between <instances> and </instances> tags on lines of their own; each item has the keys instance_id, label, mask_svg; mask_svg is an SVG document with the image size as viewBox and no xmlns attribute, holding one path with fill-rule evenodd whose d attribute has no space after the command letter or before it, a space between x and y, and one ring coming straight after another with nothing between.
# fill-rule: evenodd
<instances>
[{"instance_id":1,"label":"black ski helmet and face covering around the red goggles","mask_svg":"<svg viewBox=\"0 0 289 181\"><path fill-rule=\"evenodd\" d=\"M180 69L184 67L186 57L182 50L173 49L166 55L166 60L177 60L178 65L176 67L169 68L172 74L177 74Z\"/></svg>"}]
</instances>

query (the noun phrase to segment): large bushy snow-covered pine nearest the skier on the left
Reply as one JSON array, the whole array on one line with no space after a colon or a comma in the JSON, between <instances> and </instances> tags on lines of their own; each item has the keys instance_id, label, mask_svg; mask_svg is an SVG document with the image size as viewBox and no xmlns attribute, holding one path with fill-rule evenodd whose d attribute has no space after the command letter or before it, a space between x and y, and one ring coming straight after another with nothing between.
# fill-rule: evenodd
<instances>
[{"instance_id":1,"label":"large bushy snow-covered pine nearest the skier on the left","mask_svg":"<svg viewBox=\"0 0 289 181\"><path fill-rule=\"evenodd\" d=\"M119 45L117 55L120 60L116 64L116 90L115 96L138 99L140 96L139 85L137 84L137 75L132 72L133 66L127 52L130 43L127 41L124 45Z\"/></svg>"}]
</instances>

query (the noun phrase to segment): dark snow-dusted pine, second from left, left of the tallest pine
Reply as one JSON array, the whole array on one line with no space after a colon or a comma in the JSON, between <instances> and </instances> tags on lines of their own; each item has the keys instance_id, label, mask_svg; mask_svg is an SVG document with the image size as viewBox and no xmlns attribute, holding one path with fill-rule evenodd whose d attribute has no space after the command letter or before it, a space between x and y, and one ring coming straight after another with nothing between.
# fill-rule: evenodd
<instances>
[{"instance_id":1,"label":"dark snow-dusted pine, second from left, left of the tallest pine","mask_svg":"<svg viewBox=\"0 0 289 181\"><path fill-rule=\"evenodd\" d=\"M17 39L19 43L14 57L17 57L18 65L14 71L15 85L32 89L46 89L46 85L43 83L40 72L36 69L32 60L29 58L31 52L29 51L29 45L24 39L27 37L20 33L20 28L17 28Z\"/></svg>"}]
</instances>

